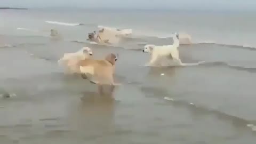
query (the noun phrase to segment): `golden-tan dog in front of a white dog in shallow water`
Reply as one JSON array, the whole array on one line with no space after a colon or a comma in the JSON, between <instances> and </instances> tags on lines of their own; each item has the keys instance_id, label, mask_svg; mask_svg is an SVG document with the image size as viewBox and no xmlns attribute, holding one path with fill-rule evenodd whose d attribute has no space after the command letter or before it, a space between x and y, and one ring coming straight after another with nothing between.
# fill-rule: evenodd
<instances>
[{"instance_id":1,"label":"golden-tan dog in front of a white dog in shallow water","mask_svg":"<svg viewBox=\"0 0 256 144\"><path fill-rule=\"evenodd\" d=\"M115 54L110 53L106 56L105 60L84 59L79 60L77 65L80 67L82 77L84 75L90 82L98 84L99 93L103 94L103 85L110 85L110 92L113 93L114 83L114 70L117 57Z\"/></svg>"}]
</instances>

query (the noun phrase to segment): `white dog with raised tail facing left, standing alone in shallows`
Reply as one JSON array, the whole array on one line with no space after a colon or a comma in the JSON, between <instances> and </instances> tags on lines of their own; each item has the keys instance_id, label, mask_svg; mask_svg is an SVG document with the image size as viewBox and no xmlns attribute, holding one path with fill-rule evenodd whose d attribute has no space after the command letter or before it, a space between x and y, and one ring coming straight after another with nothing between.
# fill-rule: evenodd
<instances>
[{"instance_id":1,"label":"white dog with raised tail facing left, standing alone in shallows","mask_svg":"<svg viewBox=\"0 0 256 144\"><path fill-rule=\"evenodd\" d=\"M179 51L177 49L179 45L180 45L179 35L177 33L174 34L172 45L163 45L163 46L156 46L151 44L145 45L142 52L147 52L147 53L150 53L151 55L151 59L147 64L147 66L157 64L158 60L164 57L181 63L179 58Z\"/></svg>"}]
</instances>

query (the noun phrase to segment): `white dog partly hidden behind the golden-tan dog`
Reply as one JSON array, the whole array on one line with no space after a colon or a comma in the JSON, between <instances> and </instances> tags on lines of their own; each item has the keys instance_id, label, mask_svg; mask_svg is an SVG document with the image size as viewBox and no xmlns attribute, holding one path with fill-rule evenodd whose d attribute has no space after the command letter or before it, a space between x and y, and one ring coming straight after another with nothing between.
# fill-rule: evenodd
<instances>
[{"instance_id":1,"label":"white dog partly hidden behind the golden-tan dog","mask_svg":"<svg viewBox=\"0 0 256 144\"><path fill-rule=\"evenodd\" d=\"M92 50L89 47L83 47L77 52L65 53L63 57L58 60L58 63L65 65L68 68L69 73L79 73L80 70L76 63L79 60L90 59L92 54Z\"/></svg>"}]
</instances>

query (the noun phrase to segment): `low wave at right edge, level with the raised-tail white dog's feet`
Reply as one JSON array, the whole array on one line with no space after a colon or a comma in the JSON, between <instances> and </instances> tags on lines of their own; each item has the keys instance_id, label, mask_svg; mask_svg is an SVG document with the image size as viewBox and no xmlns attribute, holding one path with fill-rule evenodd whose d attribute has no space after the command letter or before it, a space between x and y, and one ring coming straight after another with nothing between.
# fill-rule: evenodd
<instances>
[{"instance_id":1,"label":"low wave at right edge, level with the raised-tail white dog's feet","mask_svg":"<svg viewBox=\"0 0 256 144\"><path fill-rule=\"evenodd\" d=\"M242 66L231 66L227 62L222 62L222 61L204 62L204 63L202 63L201 66L206 66L206 67L215 67L215 66L228 67L228 68L231 68L231 69L247 71L249 73L256 73L256 67L246 68L246 67L242 67Z\"/></svg>"}]
</instances>

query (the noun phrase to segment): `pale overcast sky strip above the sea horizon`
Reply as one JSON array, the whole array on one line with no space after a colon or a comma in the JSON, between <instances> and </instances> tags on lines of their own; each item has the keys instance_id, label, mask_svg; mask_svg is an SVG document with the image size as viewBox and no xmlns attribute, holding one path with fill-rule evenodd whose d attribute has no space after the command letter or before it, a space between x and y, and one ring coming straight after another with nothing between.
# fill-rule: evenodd
<instances>
[{"instance_id":1,"label":"pale overcast sky strip above the sea horizon","mask_svg":"<svg viewBox=\"0 0 256 144\"><path fill-rule=\"evenodd\" d=\"M8 7L256 9L256 0L0 0Z\"/></svg>"}]
</instances>

